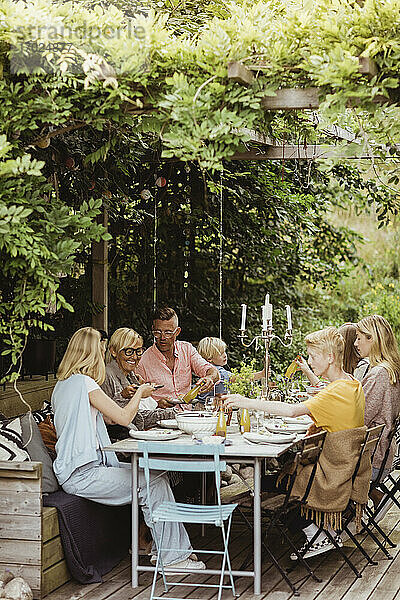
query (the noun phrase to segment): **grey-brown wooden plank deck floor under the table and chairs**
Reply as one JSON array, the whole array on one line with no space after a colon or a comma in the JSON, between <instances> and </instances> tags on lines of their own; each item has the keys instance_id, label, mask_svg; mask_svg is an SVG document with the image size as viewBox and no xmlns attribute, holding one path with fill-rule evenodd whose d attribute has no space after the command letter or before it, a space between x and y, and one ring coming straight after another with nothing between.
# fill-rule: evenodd
<instances>
[{"instance_id":1,"label":"grey-brown wooden plank deck floor under the table and chairs","mask_svg":"<svg viewBox=\"0 0 400 600\"><path fill-rule=\"evenodd\" d=\"M346 542L345 550L352 556L353 562L362 571L362 577L356 579L353 572L347 565L343 564L342 558L335 551L327 552L320 557L309 560L310 565L322 580L321 583L311 578L300 581L305 575L301 567L296 567L292 572L291 578L293 581L299 582L300 598L302 600L400 600L400 510L392 508L381 524L386 532L391 532L391 539L397 544L396 548L391 550L393 560L386 559L381 551L377 551L374 558L378 564L376 566L366 566L365 559L354 549L352 543ZM210 532L210 535L213 535L213 532ZM208 543L211 541L211 546L215 543L215 538L212 537L208 540L205 538L205 540L197 538L197 547L207 547L207 541ZM231 534L231 558L234 568L237 568L247 555L251 542L248 531L244 530L240 522L236 522ZM289 565L287 548L281 545L279 539L273 540L273 543L275 550L281 554L283 562ZM372 546L367 540L365 541L365 547L372 551ZM214 563L213 558L207 560L208 566L211 566L212 563ZM211 580L211 577L200 574L187 577L191 582L204 583ZM176 577L175 581L183 581L184 579L184 577ZM147 600L150 597L150 580L150 573L142 574L139 580L140 586L132 589L130 585L130 562L129 558L126 558L104 577L103 583L81 585L71 581L47 596L46 600ZM215 579L213 583L215 583ZM266 559L263 560L263 593L261 596L254 596L252 579L238 578L236 585L240 600L294 599L293 594L278 571ZM175 586L166 595L177 598L211 600L216 597L214 591L207 588L195 589ZM161 587L159 587L158 592L161 595ZM231 597L229 590L224 592L224 599Z\"/></svg>"}]
</instances>

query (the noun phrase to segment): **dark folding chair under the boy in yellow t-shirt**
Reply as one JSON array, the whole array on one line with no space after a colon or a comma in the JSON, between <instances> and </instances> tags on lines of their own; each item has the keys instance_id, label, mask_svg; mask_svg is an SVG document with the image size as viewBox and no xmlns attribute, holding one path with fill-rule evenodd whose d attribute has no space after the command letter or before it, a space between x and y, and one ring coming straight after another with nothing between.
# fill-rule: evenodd
<instances>
[{"instance_id":1,"label":"dark folding chair under the boy in yellow t-shirt","mask_svg":"<svg viewBox=\"0 0 400 600\"><path fill-rule=\"evenodd\" d=\"M315 581L321 581L310 568L310 566L306 563L303 557L300 555L297 546L295 545L290 531L288 529L288 515L295 508L300 509L301 505L307 501L307 497L310 493L312 483L314 481L315 472L317 469L317 462L319 455L321 454L322 447L325 441L326 431L322 433L317 433L315 435L306 437L302 439L297 444L297 450L293 458L293 462L290 463L290 473L283 477L282 483L279 485L279 488L276 492L269 493L269 497L264 497L261 500L261 512L264 519L266 519L267 527L264 533L264 537L262 540L262 546L264 551L267 553L272 563L278 569L290 589L292 590L295 596L299 595L299 591L297 590L294 583L289 578L287 570L281 565L279 558L274 554L271 546L268 544L268 537L271 533L271 530L275 528L282 538L286 540L289 544L291 551L295 552L298 556L299 561L305 567L308 572L308 576L311 576ZM310 477L307 482L307 487L304 492L302 498L293 498L291 497L291 492L293 489L294 482L296 480L296 475L301 466L305 464L312 464L313 468L310 472ZM278 473L276 474L278 475ZM282 490L282 491L281 491ZM265 495L264 495L265 496ZM238 512L241 515L244 522L247 524L249 529L252 531L252 524L246 514L247 509L253 508L253 500L250 496L239 499L238 500ZM249 554L240 567L240 569L244 569L249 562L251 562L252 555Z\"/></svg>"}]
</instances>

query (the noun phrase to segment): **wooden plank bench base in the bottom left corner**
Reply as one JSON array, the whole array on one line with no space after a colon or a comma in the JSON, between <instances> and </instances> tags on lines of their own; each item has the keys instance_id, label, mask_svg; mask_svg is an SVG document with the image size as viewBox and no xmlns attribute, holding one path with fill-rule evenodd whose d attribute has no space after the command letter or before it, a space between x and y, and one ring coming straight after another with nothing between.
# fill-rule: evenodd
<instances>
[{"instance_id":1,"label":"wooden plank bench base in the bottom left corner","mask_svg":"<svg viewBox=\"0 0 400 600\"><path fill-rule=\"evenodd\" d=\"M34 598L71 579L57 509L42 505L42 463L0 461L0 569L21 575Z\"/></svg>"}]
</instances>

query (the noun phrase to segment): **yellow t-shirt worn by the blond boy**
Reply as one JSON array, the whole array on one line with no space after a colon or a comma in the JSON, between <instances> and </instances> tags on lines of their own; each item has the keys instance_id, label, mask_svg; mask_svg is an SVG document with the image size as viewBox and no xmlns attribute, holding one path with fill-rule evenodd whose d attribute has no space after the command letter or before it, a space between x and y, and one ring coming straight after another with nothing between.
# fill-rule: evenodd
<instances>
[{"instance_id":1,"label":"yellow t-shirt worn by the blond boy","mask_svg":"<svg viewBox=\"0 0 400 600\"><path fill-rule=\"evenodd\" d=\"M317 427L343 431L364 425L365 397L357 379L336 379L304 401Z\"/></svg>"}]
</instances>

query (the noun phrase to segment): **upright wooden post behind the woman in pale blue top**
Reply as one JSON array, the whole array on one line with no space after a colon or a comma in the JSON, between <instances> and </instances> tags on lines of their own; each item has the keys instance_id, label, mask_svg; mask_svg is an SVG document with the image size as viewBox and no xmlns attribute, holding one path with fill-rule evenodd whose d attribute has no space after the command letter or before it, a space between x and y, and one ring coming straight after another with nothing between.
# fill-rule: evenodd
<instances>
[{"instance_id":1,"label":"upright wooden post behind the woman in pale blue top","mask_svg":"<svg viewBox=\"0 0 400 600\"><path fill-rule=\"evenodd\" d=\"M107 209L103 208L97 222L107 229ZM95 307L103 307L93 313L92 326L108 331L108 242L104 240L92 244L92 302Z\"/></svg>"}]
</instances>

